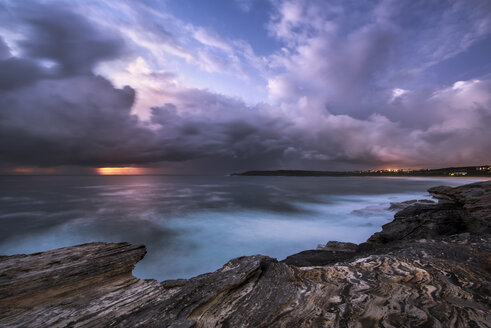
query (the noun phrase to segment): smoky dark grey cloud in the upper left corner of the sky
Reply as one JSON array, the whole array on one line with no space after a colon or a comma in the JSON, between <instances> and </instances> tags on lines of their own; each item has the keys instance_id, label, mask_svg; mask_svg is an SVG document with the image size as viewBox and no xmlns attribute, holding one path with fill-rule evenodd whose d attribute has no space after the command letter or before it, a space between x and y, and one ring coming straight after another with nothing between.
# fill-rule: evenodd
<instances>
[{"instance_id":1,"label":"smoky dark grey cloud in the upper left corner of the sky","mask_svg":"<svg viewBox=\"0 0 491 328\"><path fill-rule=\"evenodd\" d=\"M0 18L23 35L16 43L17 56L0 37L0 90L41 79L91 75L97 63L124 51L120 37L94 27L64 6L18 2Z\"/></svg>"}]
</instances>

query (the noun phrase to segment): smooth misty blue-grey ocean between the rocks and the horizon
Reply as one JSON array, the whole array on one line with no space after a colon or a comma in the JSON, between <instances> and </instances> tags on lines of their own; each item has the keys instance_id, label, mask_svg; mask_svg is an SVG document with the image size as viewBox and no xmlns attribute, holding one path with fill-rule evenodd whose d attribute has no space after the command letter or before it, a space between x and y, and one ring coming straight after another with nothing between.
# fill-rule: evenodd
<instances>
[{"instance_id":1,"label":"smooth misty blue-grey ocean between the rocks and the horizon","mask_svg":"<svg viewBox=\"0 0 491 328\"><path fill-rule=\"evenodd\" d=\"M466 179L388 177L1 176L0 254L93 241L145 244L134 270L159 281L253 254L284 259L329 240L360 243L390 202Z\"/></svg>"}]
</instances>

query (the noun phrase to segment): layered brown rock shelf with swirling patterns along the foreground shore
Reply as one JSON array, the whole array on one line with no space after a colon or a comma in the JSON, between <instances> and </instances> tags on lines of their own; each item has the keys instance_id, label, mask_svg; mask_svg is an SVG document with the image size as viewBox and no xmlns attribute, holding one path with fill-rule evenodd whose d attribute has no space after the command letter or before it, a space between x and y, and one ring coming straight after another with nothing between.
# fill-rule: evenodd
<instances>
[{"instance_id":1,"label":"layered brown rock shelf with swirling patterns along the foreground shore","mask_svg":"<svg viewBox=\"0 0 491 328\"><path fill-rule=\"evenodd\" d=\"M191 279L135 278L128 243L2 256L0 327L490 327L491 182L429 192L360 245Z\"/></svg>"}]
</instances>

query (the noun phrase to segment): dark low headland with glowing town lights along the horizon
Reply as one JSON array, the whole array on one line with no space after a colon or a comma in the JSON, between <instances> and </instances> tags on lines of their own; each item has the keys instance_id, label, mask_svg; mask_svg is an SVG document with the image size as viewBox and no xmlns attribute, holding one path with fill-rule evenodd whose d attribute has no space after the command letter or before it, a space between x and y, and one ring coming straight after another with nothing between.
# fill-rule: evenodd
<instances>
[{"instance_id":1,"label":"dark low headland with glowing town lights along the horizon","mask_svg":"<svg viewBox=\"0 0 491 328\"><path fill-rule=\"evenodd\" d=\"M461 166L440 169L381 169L365 171L255 170L232 173L231 176L294 177L484 177L491 178L491 166Z\"/></svg>"}]
</instances>

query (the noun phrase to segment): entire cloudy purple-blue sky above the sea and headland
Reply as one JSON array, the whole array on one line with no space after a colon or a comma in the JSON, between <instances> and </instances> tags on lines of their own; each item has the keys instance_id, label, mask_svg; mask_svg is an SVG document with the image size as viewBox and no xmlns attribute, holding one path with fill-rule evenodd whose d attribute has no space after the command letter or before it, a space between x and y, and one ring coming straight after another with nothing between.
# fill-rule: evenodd
<instances>
[{"instance_id":1,"label":"entire cloudy purple-blue sky above the sea and headland","mask_svg":"<svg viewBox=\"0 0 491 328\"><path fill-rule=\"evenodd\" d=\"M0 172L491 162L489 0L0 0Z\"/></svg>"}]
</instances>

